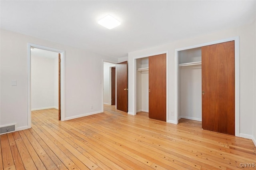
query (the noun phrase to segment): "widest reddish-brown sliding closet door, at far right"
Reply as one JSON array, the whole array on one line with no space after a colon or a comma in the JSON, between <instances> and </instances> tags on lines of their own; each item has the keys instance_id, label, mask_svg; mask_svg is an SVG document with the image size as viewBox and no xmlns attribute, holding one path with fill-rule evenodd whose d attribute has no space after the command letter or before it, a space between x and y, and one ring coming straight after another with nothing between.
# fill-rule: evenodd
<instances>
[{"instance_id":1,"label":"widest reddish-brown sliding closet door, at far right","mask_svg":"<svg viewBox=\"0 0 256 170\"><path fill-rule=\"evenodd\" d=\"M202 47L202 128L235 134L234 41Z\"/></svg>"}]
</instances>

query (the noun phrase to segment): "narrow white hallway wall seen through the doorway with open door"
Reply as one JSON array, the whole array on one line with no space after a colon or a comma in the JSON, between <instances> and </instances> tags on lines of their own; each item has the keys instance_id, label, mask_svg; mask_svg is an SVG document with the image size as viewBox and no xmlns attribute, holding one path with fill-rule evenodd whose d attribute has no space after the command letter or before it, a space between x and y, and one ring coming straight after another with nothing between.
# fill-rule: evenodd
<instances>
[{"instance_id":1,"label":"narrow white hallway wall seen through the doorway with open door","mask_svg":"<svg viewBox=\"0 0 256 170\"><path fill-rule=\"evenodd\" d=\"M104 96L103 96L103 101L104 104L106 105L111 105L111 68L110 67L115 67L115 64L113 63L108 63L104 62L103 64L103 85L104 85Z\"/></svg>"}]
</instances>

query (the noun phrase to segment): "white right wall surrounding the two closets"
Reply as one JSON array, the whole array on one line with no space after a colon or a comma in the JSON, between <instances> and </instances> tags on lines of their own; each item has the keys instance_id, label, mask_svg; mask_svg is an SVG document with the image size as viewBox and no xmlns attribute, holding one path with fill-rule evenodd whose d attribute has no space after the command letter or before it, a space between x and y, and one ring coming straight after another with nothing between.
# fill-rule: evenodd
<instances>
[{"instance_id":1,"label":"white right wall surrounding the two closets","mask_svg":"<svg viewBox=\"0 0 256 170\"><path fill-rule=\"evenodd\" d=\"M238 28L230 28L229 30L223 30L220 32L214 32L211 34L200 35L193 38L187 38L185 40L179 40L176 42L152 47L148 49L142 49L140 51L134 51L128 53L129 62L129 92L128 92L128 113L133 115L134 111L134 59L138 57L150 56L152 54L160 53L162 51L168 51L168 117L169 122L174 121L174 115L170 112L174 111L174 50L182 47L188 47L205 42L213 42L216 40L223 40L226 38L240 37L240 136L252 138L253 126L255 122L255 21L254 23L240 26ZM254 93L253 93L254 92ZM176 114L176 113L174 113Z\"/></svg>"}]
</instances>

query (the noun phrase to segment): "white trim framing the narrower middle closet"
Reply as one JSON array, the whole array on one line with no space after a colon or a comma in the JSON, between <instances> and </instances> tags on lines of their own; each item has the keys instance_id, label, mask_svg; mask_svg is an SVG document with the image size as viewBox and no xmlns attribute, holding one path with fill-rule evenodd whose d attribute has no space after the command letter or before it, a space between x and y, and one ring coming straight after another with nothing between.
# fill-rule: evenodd
<instances>
[{"instance_id":1,"label":"white trim framing the narrower middle closet","mask_svg":"<svg viewBox=\"0 0 256 170\"><path fill-rule=\"evenodd\" d=\"M169 122L169 51L162 51L162 52L158 52L158 53L151 53L151 54L147 54L147 55L141 55L141 56L136 56L136 57L133 57L132 58L132 66L133 66L133 69L132 69L132 75L134 77L134 83L132 84L133 86L133 89L134 89L134 108L133 108L133 111L135 112L136 111L136 72L137 72L137 69L136 69L136 64L137 64L137 60L136 59L139 59L139 58L144 58L144 57L150 57L150 56L154 56L154 55L160 55L160 54L166 54L166 122ZM136 113L132 113L132 112L128 112L129 115L136 115Z\"/></svg>"}]
</instances>

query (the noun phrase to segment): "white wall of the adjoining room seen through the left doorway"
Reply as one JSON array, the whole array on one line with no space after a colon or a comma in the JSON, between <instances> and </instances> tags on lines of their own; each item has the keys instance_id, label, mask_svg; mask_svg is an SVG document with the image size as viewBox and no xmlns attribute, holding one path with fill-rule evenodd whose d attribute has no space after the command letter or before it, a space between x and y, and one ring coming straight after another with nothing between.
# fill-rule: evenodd
<instances>
[{"instance_id":1,"label":"white wall of the adjoining room seen through the left doorway","mask_svg":"<svg viewBox=\"0 0 256 170\"><path fill-rule=\"evenodd\" d=\"M56 53L58 57L58 53ZM58 91L58 65L55 59L40 57L31 52L31 110L54 108ZM57 63L58 64L58 63ZM57 88L56 88L57 86ZM58 101L57 101L58 102Z\"/></svg>"}]
</instances>

